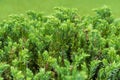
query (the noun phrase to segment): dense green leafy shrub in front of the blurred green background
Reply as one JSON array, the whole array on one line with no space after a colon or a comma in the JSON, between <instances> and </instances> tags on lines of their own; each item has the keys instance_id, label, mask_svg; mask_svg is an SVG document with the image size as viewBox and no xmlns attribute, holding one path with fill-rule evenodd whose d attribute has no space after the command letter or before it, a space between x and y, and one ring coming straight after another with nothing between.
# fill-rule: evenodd
<instances>
[{"instance_id":1,"label":"dense green leafy shrub in front of the blurred green background","mask_svg":"<svg viewBox=\"0 0 120 80\"><path fill-rule=\"evenodd\" d=\"M55 8L0 23L0 80L119 80L120 21L107 7Z\"/></svg>"}]
</instances>

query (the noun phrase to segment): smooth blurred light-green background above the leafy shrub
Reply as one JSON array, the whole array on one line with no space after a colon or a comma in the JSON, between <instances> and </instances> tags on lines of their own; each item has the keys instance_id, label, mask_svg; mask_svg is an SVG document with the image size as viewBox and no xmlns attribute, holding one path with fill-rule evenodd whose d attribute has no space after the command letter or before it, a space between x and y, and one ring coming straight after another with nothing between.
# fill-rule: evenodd
<instances>
[{"instance_id":1,"label":"smooth blurred light-green background above the leafy shrub","mask_svg":"<svg viewBox=\"0 0 120 80\"><path fill-rule=\"evenodd\" d=\"M120 0L0 0L0 20L28 10L51 14L54 7L77 8L80 15L93 15L93 8L104 5L112 9L115 17L120 16Z\"/></svg>"}]
</instances>

